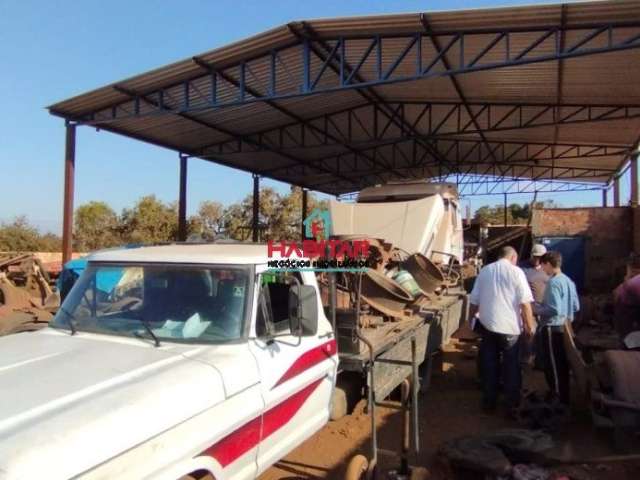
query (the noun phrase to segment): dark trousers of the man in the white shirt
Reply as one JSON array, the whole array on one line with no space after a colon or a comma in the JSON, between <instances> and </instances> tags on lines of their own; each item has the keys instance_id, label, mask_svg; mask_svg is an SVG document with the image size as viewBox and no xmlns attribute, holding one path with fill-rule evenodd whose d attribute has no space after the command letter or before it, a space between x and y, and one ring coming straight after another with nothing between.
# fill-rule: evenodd
<instances>
[{"instance_id":1,"label":"dark trousers of the man in the white shirt","mask_svg":"<svg viewBox=\"0 0 640 480\"><path fill-rule=\"evenodd\" d=\"M482 325L479 330L482 335L482 343L480 344L482 403L487 408L496 406L499 377L502 374L507 407L516 407L520 403L522 388L520 335L490 332Z\"/></svg>"}]
</instances>

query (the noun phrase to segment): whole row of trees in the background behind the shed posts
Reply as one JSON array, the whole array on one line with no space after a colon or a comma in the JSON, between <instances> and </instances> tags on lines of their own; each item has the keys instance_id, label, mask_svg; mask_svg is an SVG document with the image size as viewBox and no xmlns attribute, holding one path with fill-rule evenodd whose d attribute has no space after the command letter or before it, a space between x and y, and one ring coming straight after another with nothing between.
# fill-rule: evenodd
<instances>
[{"instance_id":1,"label":"whole row of trees in the background behind the shed posts","mask_svg":"<svg viewBox=\"0 0 640 480\"><path fill-rule=\"evenodd\" d=\"M307 214L314 208L329 208L326 200L309 193ZM298 239L302 222L302 189L292 187L281 195L272 188L260 191L260 240ZM251 239L253 195L226 208L219 202L204 201L188 221L190 236L205 241L228 237ZM90 252L127 243L165 243L178 233L178 207L154 195L139 199L132 208L118 215L105 202L92 201L79 206L74 216L74 250ZM25 217L0 225L0 251L60 251L61 239L52 233L40 234Z\"/></svg>"}]
</instances>

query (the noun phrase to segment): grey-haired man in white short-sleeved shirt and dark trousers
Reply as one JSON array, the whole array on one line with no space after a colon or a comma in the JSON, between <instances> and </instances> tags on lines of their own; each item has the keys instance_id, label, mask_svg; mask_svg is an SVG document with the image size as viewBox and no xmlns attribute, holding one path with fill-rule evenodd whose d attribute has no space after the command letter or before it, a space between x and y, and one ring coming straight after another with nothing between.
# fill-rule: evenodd
<instances>
[{"instance_id":1,"label":"grey-haired man in white short-sleeved shirt and dark trousers","mask_svg":"<svg viewBox=\"0 0 640 480\"><path fill-rule=\"evenodd\" d=\"M495 410L500 372L507 408L512 409L520 402L519 338L523 329L526 335L532 335L534 323L531 311L533 295L517 263L516 251L512 247L503 247L500 258L480 271L469 299L469 318L474 319L478 314L476 331L482 335L480 369L485 411Z\"/></svg>"}]
</instances>

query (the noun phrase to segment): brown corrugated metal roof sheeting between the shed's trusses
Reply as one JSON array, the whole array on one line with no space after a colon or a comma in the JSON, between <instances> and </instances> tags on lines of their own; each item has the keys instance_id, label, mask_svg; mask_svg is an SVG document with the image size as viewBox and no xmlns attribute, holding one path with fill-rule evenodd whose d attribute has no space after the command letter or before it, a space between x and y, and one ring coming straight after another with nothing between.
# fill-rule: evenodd
<instances>
[{"instance_id":1,"label":"brown corrugated metal roof sheeting between the shed's trusses","mask_svg":"<svg viewBox=\"0 0 640 480\"><path fill-rule=\"evenodd\" d=\"M421 36L419 41L412 43L411 35L429 31L440 35L440 43L446 43L458 34L470 35L465 37L464 52L460 42L456 42L445 58L449 64L459 65L477 57L477 65L485 66L504 61L507 37L501 32L505 29L510 31L509 51L514 55L526 50L536 41L538 32L548 28L566 28L560 41L569 47L586 42L589 47L597 48L606 46L609 41L632 39L638 35L637 27L618 28L611 33L601 30L585 40L585 35L594 32L594 24L625 22L627 25L631 21L640 21L637 1L620 0L293 22L198 55L201 64L194 59L185 59L50 108L52 113L70 120L94 112L92 119L87 120L91 125L185 153L206 152L206 158L215 158L225 165L261 172L291 183L315 185L320 190L334 193L353 191L389 179L434 177L443 170L462 175L489 174L487 172L491 170L503 176L551 178L557 170L549 174L546 159L515 157L517 164L506 162L497 168L499 165L489 165L485 156L479 156L473 163L475 153L472 149L484 148L486 153L489 147L485 142L481 147L474 147L477 144L472 142L460 144L455 151L450 151L446 138L482 140L484 136L489 142L607 144L631 148L638 140L640 121L637 118L534 128L517 128L511 118L499 131L488 131L482 136L474 130L484 128L482 104L485 102L502 103L504 109L522 103L640 107L640 49L512 65L455 77L434 76L384 83L377 81L376 39L381 38L384 46L380 53L381 71L390 72L393 67L394 78L404 78L416 75L437 55L436 45L428 36ZM341 51L337 39L344 36L348 40L344 46L343 81L349 81L352 69L360 65L357 75L350 81L369 83L357 90L301 96L305 36L312 39L307 61L309 82L317 81L317 85L325 88L340 86L336 73L340 62L334 57L325 65L324 58L329 51ZM557 40L551 35L537 44L531 53L552 54ZM275 50L278 57L271 59L269 52ZM365 59L363 55L367 51L369 55ZM407 55L399 59L403 51ZM276 64L273 78L272 60ZM239 62L244 62L244 91L238 88L242 80ZM218 103L215 106L212 105L212 80L207 65L218 72ZM444 62L440 60L433 64L431 71L442 72L444 68ZM318 77L323 69L324 73ZM255 95L270 91L274 78L278 93L290 98L253 101ZM459 85L459 91L452 78ZM165 89L162 96L157 91L160 88ZM249 103L219 104L244 100ZM418 121L420 107L405 106L404 117L396 117L396 111L386 102L400 101L466 101L474 105L459 109L456 116L451 117L445 117L446 110L434 108L433 121L440 125L434 131ZM380 107L379 111L386 113L378 117L372 114L360 116L355 129L353 119L346 114L333 115L327 126L323 125L323 115L374 103ZM494 107L494 115L499 113L500 107ZM460 134L460 125L470 122L473 133ZM509 122L511 127L505 128ZM291 127L283 135L284 140L276 138L281 127L292 125L299 129ZM383 128L384 133L374 139L371 132L379 128ZM302 137L307 132L315 135L315 141L303 142ZM429 142L437 144L438 151L421 154L422 158L418 158L415 142L389 144L416 134L437 135ZM423 150L425 141L419 140ZM373 149L375 145L378 147ZM212 146L210 150L203 150L208 146ZM464 157L461 162L460 155L469 151L473 155ZM489 151L488 158L497 157ZM566 170L567 173L560 175L562 178L605 182L611 177L603 172L615 170L624 158L624 153L598 158L593 155L556 158L553 166ZM296 164L305 166L292 168ZM583 173L576 177L575 172L567 169L581 169L582 172L593 169L594 172L590 177L582 178Z\"/></svg>"}]
</instances>

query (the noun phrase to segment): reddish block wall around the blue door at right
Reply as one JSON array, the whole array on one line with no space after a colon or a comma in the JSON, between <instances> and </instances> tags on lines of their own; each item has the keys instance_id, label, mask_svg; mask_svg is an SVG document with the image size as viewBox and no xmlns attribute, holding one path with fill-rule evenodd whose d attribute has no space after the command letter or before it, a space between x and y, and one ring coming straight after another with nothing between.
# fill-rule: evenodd
<instances>
[{"instance_id":1,"label":"reddish block wall around the blue door at right","mask_svg":"<svg viewBox=\"0 0 640 480\"><path fill-rule=\"evenodd\" d=\"M585 293L606 293L622 281L629 254L640 246L634 224L640 227L639 208L545 208L534 211L531 227L534 237L584 236Z\"/></svg>"}]
</instances>

